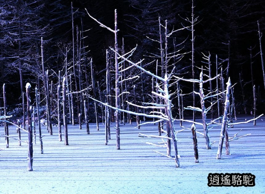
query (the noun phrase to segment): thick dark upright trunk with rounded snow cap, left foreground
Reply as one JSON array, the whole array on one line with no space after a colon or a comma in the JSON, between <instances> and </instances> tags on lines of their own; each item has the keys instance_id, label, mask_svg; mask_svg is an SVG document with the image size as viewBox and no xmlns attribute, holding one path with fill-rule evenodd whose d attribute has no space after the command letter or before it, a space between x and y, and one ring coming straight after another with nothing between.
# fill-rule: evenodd
<instances>
[{"instance_id":1,"label":"thick dark upright trunk with rounded snow cap, left foreground","mask_svg":"<svg viewBox=\"0 0 265 194\"><path fill-rule=\"evenodd\" d=\"M28 113L28 171L33 171L33 143L32 143L32 121L31 121L31 97L30 97L31 84L26 84L27 93L27 113Z\"/></svg>"}]
</instances>

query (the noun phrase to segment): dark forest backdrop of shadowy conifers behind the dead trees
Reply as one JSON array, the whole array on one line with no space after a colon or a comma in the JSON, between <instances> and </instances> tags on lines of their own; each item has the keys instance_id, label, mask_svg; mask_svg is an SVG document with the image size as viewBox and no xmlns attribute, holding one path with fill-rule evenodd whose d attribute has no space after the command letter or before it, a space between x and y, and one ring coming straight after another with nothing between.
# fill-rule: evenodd
<instances>
[{"instance_id":1,"label":"dark forest backdrop of shadowy conifers behind the dead trees","mask_svg":"<svg viewBox=\"0 0 265 194\"><path fill-rule=\"evenodd\" d=\"M254 83L259 88L257 89L258 109L260 112L263 111L264 84L257 21L259 20L260 31L264 33L265 2L263 0L195 0L194 6L194 15L198 17L198 22L194 26L195 65L197 67L206 65L202 63L204 61L202 53L205 55L210 53L213 69L215 69L215 55L220 58L219 62L224 60L222 67L226 69L226 59L229 57L229 76L232 83L237 83L234 92L237 109L243 113L243 98L239 84L239 73L241 73L247 110L250 113L252 85L249 49L252 48ZM169 31L190 26L185 19L191 19L191 7L191 0L73 1L75 33L76 26L78 26L84 37L82 49L86 54L83 59L93 58L95 79L101 83L102 91L104 91L103 83L105 82L105 71L103 71L106 67L105 53L109 46L114 47L114 35L88 17L85 8L94 18L112 29L114 28L114 10L117 9L118 29L120 30L118 33L119 48L121 49L122 38L124 38L125 52L137 44L137 50L132 58L135 61L145 58L147 63L153 60L149 55L159 55L160 52L159 44L149 39L159 39L158 17L161 17L162 25L165 25L165 20L167 20ZM19 104L21 90L25 89L26 83L30 82L32 87L35 87L38 84L38 78L42 79L42 70L39 69L41 37L44 40L46 69L55 72L62 70L66 47L70 49L69 63L73 58L71 1L0 1L0 85L6 83L8 104ZM174 38L176 44L185 42L174 48ZM264 38L263 36L263 50ZM182 53L191 51L191 31L188 29L175 32L168 39L169 52L181 48ZM191 78L190 59L191 53L188 53L175 64L177 70L187 67L178 72L185 78ZM155 71L155 66L148 68ZM89 71L85 64L83 71ZM195 69L195 71L195 77L198 78L200 69ZM23 76L24 89L21 89L19 72ZM55 78L56 75L52 74L50 80ZM43 87L42 82L40 87ZM189 87L190 85L182 86L186 93L191 92ZM0 93L2 97L2 91Z\"/></svg>"}]
</instances>

